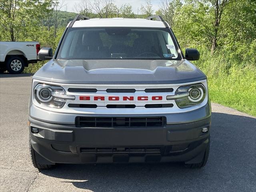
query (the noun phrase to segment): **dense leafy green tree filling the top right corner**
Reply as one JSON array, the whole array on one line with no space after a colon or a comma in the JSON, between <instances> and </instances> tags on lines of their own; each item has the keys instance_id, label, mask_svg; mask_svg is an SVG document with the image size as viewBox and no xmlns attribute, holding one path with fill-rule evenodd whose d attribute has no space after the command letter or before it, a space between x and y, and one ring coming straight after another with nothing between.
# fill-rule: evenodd
<instances>
[{"instance_id":1,"label":"dense leafy green tree filling the top right corner","mask_svg":"<svg viewBox=\"0 0 256 192\"><path fill-rule=\"evenodd\" d=\"M256 66L256 4L241 0L228 4L222 17L218 46L233 63Z\"/></svg>"}]
</instances>

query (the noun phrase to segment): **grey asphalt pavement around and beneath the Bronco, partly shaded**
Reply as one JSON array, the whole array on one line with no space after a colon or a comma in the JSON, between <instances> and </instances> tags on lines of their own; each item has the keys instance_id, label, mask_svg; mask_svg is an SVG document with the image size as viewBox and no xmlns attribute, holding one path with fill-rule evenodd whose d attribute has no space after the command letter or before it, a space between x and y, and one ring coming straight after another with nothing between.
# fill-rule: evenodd
<instances>
[{"instance_id":1,"label":"grey asphalt pavement around and beneath the Bronco, partly shaded","mask_svg":"<svg viewBox=\"0 0 256 192\"><path fill-rule=\"evenodd\" d=\"M256 118L212 104L211 150L202 169L182 164L59 165L38 172L28 148L31 76L0 78L0 191L256 191Z\"/></svg>"}]
</instances>

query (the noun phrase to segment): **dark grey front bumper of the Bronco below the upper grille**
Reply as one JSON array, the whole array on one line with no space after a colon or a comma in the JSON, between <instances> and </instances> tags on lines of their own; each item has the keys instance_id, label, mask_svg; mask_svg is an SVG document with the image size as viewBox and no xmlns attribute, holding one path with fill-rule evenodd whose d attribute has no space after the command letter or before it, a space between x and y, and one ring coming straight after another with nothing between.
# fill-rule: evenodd
<instances>
[{"instance_id":1,"label":"dark grey front bumper of the Bronco below the upper grille","mask_svg":"<svg viewBox=\"0 0 256 192\"><path fill-rule=\"evenodd\" d=\"M211 121L208 116L164 127L77 128L74 124L52 124L31 116L29 120L30 127L39 129L37 134L30 129L32 147L45 164L198 163L208 146ZM208 127L208 132L203 133L203 127Z\"/></svg>"}]
</instances>

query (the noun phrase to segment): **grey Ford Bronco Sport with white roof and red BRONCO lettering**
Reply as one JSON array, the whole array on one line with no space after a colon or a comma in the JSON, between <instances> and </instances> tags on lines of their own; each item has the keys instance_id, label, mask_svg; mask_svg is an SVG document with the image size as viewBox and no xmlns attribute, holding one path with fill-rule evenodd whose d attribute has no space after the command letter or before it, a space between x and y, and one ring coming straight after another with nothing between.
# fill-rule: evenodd
<instances>
[{"instance_id":1,"label":"grey Ford Bronco Sport with white roof and red BRONCO lettering","mask_svg":"<svg viewBox=\"0 0 256 192\"><path fill-rule=\"evenodd\" d=\"M161 16L70 22L33 76L29 103L34 166L184 162L206 164L207 79Z\"/></svg>"}]
</instances>

